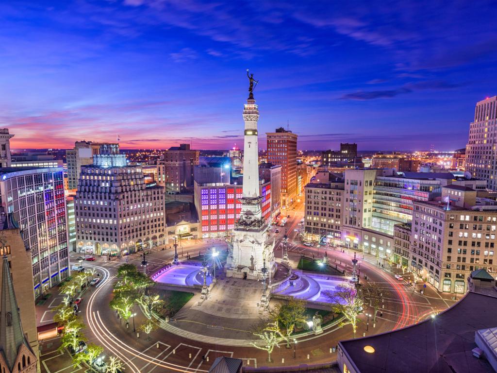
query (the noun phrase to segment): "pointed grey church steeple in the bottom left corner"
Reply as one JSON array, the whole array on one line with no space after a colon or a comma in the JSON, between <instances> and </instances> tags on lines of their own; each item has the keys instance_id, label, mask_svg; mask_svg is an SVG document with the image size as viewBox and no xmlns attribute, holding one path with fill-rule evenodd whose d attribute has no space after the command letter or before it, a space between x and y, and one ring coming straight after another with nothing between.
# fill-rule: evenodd
<instances>
[{"instance_id":1,"label":"pointed grey church steeple in the bottom left corner","mask_svg":"<svg viewBox=\"0 0 497 373\"><path fill-rule=\"evenodd\" d=\"M19 308L15 299L14 285L6 255L3 256L2 271L0 351L2 355L0 356L0 366L4 365L8 371L31 372L33 367L36 371L36 356L22 331Z\"/></svg>"}]
</instances>

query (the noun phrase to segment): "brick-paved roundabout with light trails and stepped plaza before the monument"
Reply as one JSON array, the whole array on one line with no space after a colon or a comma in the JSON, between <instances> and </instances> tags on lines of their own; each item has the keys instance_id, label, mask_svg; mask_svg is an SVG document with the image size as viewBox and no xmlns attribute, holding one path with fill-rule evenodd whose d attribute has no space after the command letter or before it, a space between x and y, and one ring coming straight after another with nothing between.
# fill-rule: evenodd
<instances>
[{"instance_id":1,"label":"brick-paved roundabout with light trails and stepped plaza before the monument","mask_svg":"<svg viewBox=\"0 0 497 373\"><path fill-rule=\"evenodd\" d=\"M209 249L207 246L210 245L201 246L200 250L206 252ZM300 250L312 249L300 245L290 249L289 258L292 267L293 265L296 267L300 259ZM149 261L158 264L155 271L149 273L150 276L160 272L161 262L168 263L170 260L167 258L168 255L170 255L168 252L158 252L150 256ZM331 261L336 260L338 263L339 260L343 263L350 260L350 256L341 251L330 250L329 257ZM130 263L139 268L140 258L130 260ZM244 282L244 280L222 279L223 275L217 273L218 283L213 287L207 299L208 303L204 304L206 307L199 309L202 307L197 303L201 300L201 285L196 275L189 276L191 274L189 270L184 276L185 279L195 279L191 282L193 289L188 287L184 290L193 292L194 296L170 317L169 322L154 317L160 328L150 333L149 337L141 332L137 336L131 326L126 328L123 321L117 318L116 312L109 307L113 297L112 289L117 281L117 268L122 264L124 263L95 262L92 265L103 278L88 299L84 318L95 343L103 346L106 354L118 356L126 365L127 372L206 372L214 358L218 356L240 358L245 367L253 369L261 366L328 364L336 360L333 347L338 340L353 337L350 325L339 326L339 322L336 321L325 325L324 332L319 335L309 330L296 334L297 343L295 346L292 343L290 349L285 348L285 341L282 341L272 353L273 362L268 363L267 353L253 346L254 343L260 343L253 336L252 329L252 326L260 320L256 303L253 309L248 308L249 305L245 303L245 301L256 302L257 298L260 298L261 282L245 281L243 290L240 290L240 286L234 282ZM338 265L337 268L340 269L340 266ZM342 266L341 269L345 270L346 267ZM195 271L197 270L193 268L192 272ZM378 316L376 327L369 325L369 331L366 332L365 316L361 315L362 323L359 324L357 337L362 336L362 333L371 335L408 326L416 322L421 314L429 314L427 312L431 308L429 300L418 293L407 291L406 286L395 280L391 274L367 260L361 263L361 273L367 273L368 280L381 284L386 294L383 299L382 316ZM294 284L295 289L300 286L301 284ZM311 291L309 293L311 294ZM281 295L288 294L284 294L283 291ZM278 294L273 294L271 302L281 301L275 299L277 296ZM134 312L137 314L136 325L147 320L138 306L135 307Z\"/></svg>"}]
</instances>

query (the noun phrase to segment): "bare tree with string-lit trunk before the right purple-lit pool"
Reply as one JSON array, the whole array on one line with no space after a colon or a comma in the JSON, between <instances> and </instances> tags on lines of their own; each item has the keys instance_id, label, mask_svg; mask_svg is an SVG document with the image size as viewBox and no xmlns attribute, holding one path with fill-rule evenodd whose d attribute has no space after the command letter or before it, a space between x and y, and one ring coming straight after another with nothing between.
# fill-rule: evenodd
<instances>
[{"instance_id":1,"label":"bare tree with string-lit trunk before the right purple-lit pool","mask_svg":"<svg viewBox=\"0 0 497 373\"><path fill-rule=\"evenodd\" d=\"M352 330L355 332L357 329L357 316L362 312L363 301L357 290L350 285L338 284L332 291L325 291L325 296L330 299L332 309L334 312L341 313L347 322L342 322L341 325L352 325Z\"/></svg>"}]
</instances>

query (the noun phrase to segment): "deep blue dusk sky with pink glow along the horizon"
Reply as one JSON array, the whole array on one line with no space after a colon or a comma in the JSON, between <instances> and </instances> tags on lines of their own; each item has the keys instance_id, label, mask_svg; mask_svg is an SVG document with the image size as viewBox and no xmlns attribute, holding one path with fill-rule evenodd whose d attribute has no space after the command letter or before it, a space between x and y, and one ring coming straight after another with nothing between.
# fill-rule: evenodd
<instances>
[{"instance_id":1,"label":"deep blue dusk sky with pink glow along the horizon","mask_svg":"<svg viewBox=\"0 0 497 373\"><path fill-rule=\"evenodd\" d=\"M116 0L0 3L0 126L12 148L243 146L454 150L497 94L495 1ZM259 144L265 147L265 138Z\"/></svg>"}]
</instances>

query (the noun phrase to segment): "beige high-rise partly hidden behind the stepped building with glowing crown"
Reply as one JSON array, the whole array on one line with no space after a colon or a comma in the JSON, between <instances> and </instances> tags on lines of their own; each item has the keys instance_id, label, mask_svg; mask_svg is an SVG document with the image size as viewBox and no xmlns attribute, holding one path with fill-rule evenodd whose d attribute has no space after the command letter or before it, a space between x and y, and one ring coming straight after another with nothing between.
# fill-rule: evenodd
<instances>
[{"instance_id":1,"label":"beige high-rise partly hidden behind the stepped building with glowing crown","mask_svg":"<svg viewBox=\"0 0 497 373\"><path fill-rule=\"evenodd\" d=\"M68 187L76 189L78 180L80 179L81 166L91 165L93 156L103 152L119 152L119 144L117 143L97 143L91 141L77 141L74 143L74 148L66 150Z\"/></svg>"}]
</instances>

